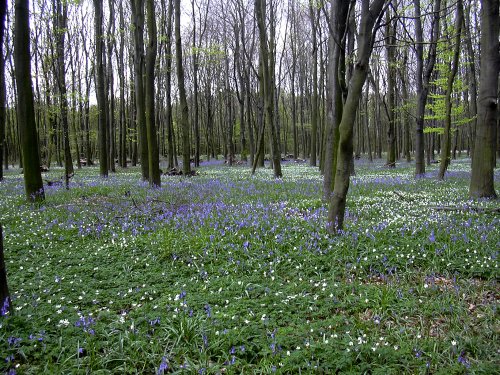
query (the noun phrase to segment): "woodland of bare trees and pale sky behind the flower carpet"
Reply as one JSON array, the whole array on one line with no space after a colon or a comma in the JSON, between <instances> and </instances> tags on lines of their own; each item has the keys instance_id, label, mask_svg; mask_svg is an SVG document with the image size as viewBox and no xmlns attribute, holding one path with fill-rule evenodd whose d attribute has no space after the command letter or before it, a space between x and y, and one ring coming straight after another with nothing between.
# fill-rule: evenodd
<instances>
[{"instance_id":1,"label":"woodland of bare trees and pale sky behind the flower carpet","mask_svg":"<svg viewBox=\"0 0 500 375\"><path fill-rule=\"evenodd\" d=\"M280 177L282 158L307 159L325 197L340 197L341 227L352 158L415 160L417 177L440 162L442 179L451 159L483 155L479 142L488 162L471 196L496 196L498 1L2 3L2 170L24 166L29 83L19 87L31 72L36 144L24 159L65 166L67 185L96 162L102 176L140 164L159 186L160 167L191 174L223 157L255 171L269 159Z\"/></svg>"}]
</instances>

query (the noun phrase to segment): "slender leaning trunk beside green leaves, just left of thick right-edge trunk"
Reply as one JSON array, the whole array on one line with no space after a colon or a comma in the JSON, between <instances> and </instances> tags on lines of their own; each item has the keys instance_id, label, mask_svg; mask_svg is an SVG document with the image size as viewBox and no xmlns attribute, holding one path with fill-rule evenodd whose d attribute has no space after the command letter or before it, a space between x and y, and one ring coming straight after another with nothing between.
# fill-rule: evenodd
<instances>
[{"instance_id":1,"label":"slender leaning trunk beside green leaves, just left of thick right-edge trunk","mask_svg":"<svg viewBox=\"0 0 500 375\"><path fill-rule=\"evenodd\" d=\"M455 76L458 71L458 59L460 57L460 39L462 34L462 25L464 19L464 9L462 0L457 1L457 14L455 20L455 49L453 51L453 61L451 63L451 71L448 74L448 81L446 84L446 96L445 96L445 122L444 122L444 134L443 134L443 144L441 146L441 163L439 164L438 179L444 179L444 174L450 165L450 153L451 153L451 94L453 92L453 82L455 81Z\"/></svg>"}]
</instances>

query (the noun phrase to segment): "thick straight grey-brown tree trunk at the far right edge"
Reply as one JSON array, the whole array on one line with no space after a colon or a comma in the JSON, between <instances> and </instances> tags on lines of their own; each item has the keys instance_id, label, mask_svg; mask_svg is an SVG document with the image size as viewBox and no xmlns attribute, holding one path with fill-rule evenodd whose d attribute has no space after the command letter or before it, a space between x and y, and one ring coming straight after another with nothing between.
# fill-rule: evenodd
<instances>
[{"instance_id":1,"label":"thick straight grey-brown tree trunk at the far right edge","mask_svg":"<svg viewBox=\"0 0 500 375\"><path fill-rule=\"evenodd\" d=\"M496 198L493 170L498 116L498 75L500 54L498 51L499 1L481 2L481 69L477 133L472 176L469 187L471 198Z\"/></svg>"}]
</instances>

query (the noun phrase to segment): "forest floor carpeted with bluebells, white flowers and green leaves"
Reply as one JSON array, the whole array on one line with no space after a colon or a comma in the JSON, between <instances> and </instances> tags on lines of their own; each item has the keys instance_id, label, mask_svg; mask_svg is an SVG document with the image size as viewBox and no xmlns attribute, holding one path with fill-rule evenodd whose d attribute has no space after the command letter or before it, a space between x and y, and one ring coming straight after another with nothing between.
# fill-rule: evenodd
<instances>
[{"instance_id":1,"label":"forest floor carpeted with bluebells, white flowers and green leaves","mask_svg":"<svg viewBox=\"0 0 500 375\"><path fill-rule=\"evenodd\" d=\"M84 168L39 207L7 171L0 371L496 373L499 202L467 199L469 160L413 168L357 161L340 236L306 164Z\"/></svg>"}]
</instances>

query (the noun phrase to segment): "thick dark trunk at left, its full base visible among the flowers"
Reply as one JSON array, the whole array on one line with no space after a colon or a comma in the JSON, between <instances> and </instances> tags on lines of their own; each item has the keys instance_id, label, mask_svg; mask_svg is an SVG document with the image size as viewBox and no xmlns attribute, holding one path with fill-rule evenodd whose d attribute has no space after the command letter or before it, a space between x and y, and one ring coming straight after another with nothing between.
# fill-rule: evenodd
<instances>
[{"instance_id":1,"label":"thick dark trunk at left, its full base visible among the flowers","mask_svg":"<svg viewBox=\"0 0 500 375\"><path fill-rule=\"evenodd\" d=\"M17 119L21 139L24 186L29 201L45 199L33 103L31 81L29 1L15 2L14 61L17 85Z\"/></svg>"}]
</instances>

